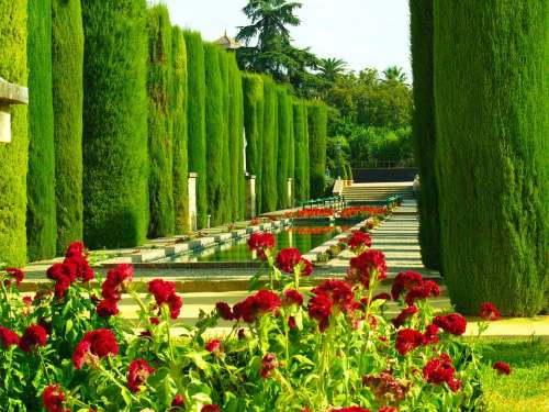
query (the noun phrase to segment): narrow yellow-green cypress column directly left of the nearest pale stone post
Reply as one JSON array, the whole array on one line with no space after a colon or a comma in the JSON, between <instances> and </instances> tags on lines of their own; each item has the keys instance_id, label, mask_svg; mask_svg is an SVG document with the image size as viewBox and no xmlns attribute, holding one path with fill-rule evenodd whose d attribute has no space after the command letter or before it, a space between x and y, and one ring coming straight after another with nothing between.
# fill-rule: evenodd
<instances>
[{"instance_id":1,"label":"narrow yellow-green cypress column directly left of the nearest pale stone post","mask_svg":"<svg viewBox=\"0 0 549 412\"><path fill-rule=\"evenodd\" d=\"M173 214L176 234L189 231L189 172L187 158L187 48L183 32L171 32L171 120L173 124Z\"/></svg>"}]
</instances>

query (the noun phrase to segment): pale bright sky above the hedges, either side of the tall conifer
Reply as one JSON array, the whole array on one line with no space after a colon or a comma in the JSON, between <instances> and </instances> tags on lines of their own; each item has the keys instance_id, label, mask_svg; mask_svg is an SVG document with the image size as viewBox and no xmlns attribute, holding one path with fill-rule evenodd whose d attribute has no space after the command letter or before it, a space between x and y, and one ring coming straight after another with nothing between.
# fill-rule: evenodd
<instances>
[{"instance_id":1,"label":"pale bright sky above the hedges, either side of the tall conifer","mask_svg":"<svg viewBox=\"0 0 549 412\"><path fill-rule=\"evenodd\" d=\"M160 0L173 24L193 29L208 41L237 33L248 23L242 12L247 0ZM348 68L382 71L396 65L408 78L408 0L299 0L301 25L291 29L294 45L311 47L320 57L336 57ZM158 2L158 1L153 1Z\"/></svg>"}]
</instances>

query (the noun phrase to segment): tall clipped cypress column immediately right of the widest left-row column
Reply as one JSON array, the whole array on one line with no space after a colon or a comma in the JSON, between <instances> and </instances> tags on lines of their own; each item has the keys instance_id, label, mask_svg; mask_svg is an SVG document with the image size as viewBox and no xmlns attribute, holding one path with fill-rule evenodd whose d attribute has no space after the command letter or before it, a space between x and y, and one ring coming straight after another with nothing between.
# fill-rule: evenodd
<instances>
[{"instance_id":1,"label":"tall clipped cypress column immediately right of the widest left-row column","mask_svg":"<svg viewBox=\"0 0 549 412\"><path fill-rule=\"evenodd\" d=\"M172 60L171 23L168 8L147 11L148 30L148 236L172 235L173 214L173 123L171 118Z\"/></svg>"}]
</instances>

